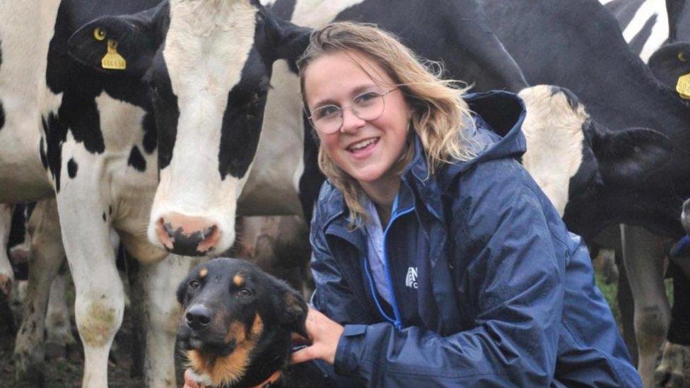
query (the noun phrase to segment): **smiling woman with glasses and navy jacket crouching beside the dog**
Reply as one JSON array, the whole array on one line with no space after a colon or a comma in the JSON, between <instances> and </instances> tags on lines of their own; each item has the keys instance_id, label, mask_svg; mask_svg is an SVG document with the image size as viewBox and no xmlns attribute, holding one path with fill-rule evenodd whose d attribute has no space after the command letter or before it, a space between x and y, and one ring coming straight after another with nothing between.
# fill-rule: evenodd
<instances>
[{"instance_id":1,"label":"smiling woman with glasses and navy jacket crouching beside the dog","mask_svg":"<svg viewBox=\"0 0 690 388\"><path fill-rule=\"evenodd\" d=\"M641 387L587 249L516 161L515 95L463 96L369 25L315 30L298 67L328 182L293 363L370 386Z\"/></svg>"}]
</instances>

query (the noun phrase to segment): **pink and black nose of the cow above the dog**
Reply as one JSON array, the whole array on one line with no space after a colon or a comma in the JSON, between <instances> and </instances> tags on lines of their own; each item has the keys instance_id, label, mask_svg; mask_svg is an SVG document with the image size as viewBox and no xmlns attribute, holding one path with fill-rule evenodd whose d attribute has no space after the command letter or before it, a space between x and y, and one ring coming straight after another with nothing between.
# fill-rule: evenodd
<instances>
[{"instance_id":1,"label":"pink and black nose of the cow above the dog","mask_svg":"<svg viewBox=\"0 0 690 388\"><path fill-rule=\"evenodd\" d=\"M158 218L156 235L168 251L185 256L208 254L221 240L221 231L213 221L180 213Z\"/></svg>"}]
</instances>

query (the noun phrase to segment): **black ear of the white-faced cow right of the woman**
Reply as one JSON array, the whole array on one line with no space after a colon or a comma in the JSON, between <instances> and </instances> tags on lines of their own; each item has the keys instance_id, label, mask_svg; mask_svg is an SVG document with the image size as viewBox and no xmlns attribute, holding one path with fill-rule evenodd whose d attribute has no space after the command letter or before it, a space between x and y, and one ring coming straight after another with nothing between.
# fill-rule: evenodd
<instances>
[{"instance_id":1,"label":"black ear of the white-faced cow right of the woman","mask_svg":"<svg viewBox=\"0 0 690 388\"><path fill-rule=\"evenodd\" d=\"M604 184L647 180L671 158L673 147L660 132L648 128L609 131L597 125L585 129Z\"/></svg>"}]
</instances>

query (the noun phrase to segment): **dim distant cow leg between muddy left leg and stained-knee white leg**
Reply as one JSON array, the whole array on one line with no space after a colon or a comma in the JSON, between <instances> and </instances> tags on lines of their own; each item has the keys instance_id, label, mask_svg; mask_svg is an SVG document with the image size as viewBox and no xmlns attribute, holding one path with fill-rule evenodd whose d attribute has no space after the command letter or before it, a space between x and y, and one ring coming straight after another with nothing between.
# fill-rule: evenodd
<instances>
[{"instance_id":1,"label":"dim distant cow leg between muddy left leg and stained-knee white leg","mask_svg":"<svg viewBox=\"0 0 690 388\"><path fill-rule=\"evenodd\" d=\"M66 355L66 346L74 344L72 327L69 322L69 307L65 295L67 287L67 268L64 263L50 286L48 309L45 321L45 352L48 357L59 358Z\"/></svg>"}]
</instances>

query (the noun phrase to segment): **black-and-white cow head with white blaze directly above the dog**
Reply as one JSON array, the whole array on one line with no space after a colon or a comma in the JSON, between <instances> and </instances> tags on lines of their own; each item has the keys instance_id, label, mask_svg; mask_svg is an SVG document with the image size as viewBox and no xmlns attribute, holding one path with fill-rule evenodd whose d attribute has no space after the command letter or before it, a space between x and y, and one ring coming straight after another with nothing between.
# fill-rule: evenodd
<instances>
[{"instance_id":1,"label":"black-and-white cow head with white blaze directly above the dog","mask_svg":"<svg viewBox=\"0 0 690 388\"><path fill-rule=\"evenodd\" d=\"M170 0L78 30L70 54L101 69L107 42L151 88L160 183L148 238L171 252L218 255L235 240L235 210L259 143L271 66L295 59L308 30L255 0Z\"/></svg>"}]
</instances>

